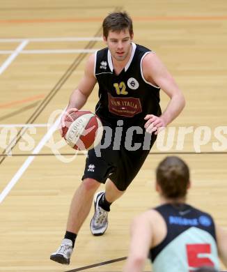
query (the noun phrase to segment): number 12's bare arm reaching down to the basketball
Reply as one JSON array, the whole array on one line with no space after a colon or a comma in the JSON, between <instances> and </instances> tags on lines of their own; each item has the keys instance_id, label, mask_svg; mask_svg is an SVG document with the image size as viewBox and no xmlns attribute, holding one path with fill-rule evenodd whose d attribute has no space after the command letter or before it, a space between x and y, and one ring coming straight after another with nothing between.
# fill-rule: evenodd
<instances>
[{"instance_id":1,"label":"number 12's bare arm reaching down to the basketball","mask_svg":"<svg viewBox=\"0 0 227 272\"><path fill-rule=\"evenodd\" d=\"M90 96L91 91L96 83L96 78L94 75L94 62L95 62L95 55L92 54L86 63L86 67L84 70L84 77L82 77L81 81L79 82L77 89L75 89L71 96L70 102L68 104L67 109L77 108L81 109L86 103L88 96Z\"/></svg>"}]
</instances>

